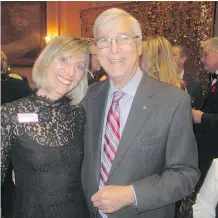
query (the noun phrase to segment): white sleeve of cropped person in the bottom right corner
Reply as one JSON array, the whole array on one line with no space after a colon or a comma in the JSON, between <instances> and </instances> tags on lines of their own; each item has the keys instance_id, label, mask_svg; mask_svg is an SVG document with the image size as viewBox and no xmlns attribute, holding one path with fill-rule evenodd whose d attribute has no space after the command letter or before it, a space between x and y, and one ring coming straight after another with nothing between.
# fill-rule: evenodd
<instances>
[{"instance_id":1,"label":"white sleeve of cropped person in the bottom right corner","mask_svg":"<svg viewBox=\"0 0 218 218\"><path fill-rule=\"evenodd\" d=\"M218 204L218 158L213 163L207 173L205 181L197 195L195 205L193 205L194 218L215 218Z\"/></svg>"}]
</instances>

